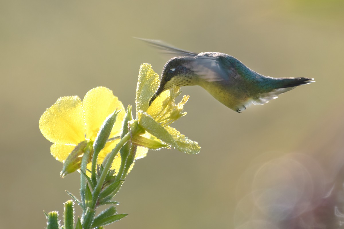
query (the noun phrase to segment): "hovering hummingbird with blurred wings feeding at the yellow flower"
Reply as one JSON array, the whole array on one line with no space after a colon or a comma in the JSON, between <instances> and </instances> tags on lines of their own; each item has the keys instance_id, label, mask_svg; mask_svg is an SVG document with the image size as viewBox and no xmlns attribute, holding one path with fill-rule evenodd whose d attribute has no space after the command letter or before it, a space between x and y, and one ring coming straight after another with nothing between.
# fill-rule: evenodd
<instances>
[{"instance_id":1,"label":"hovering hummingbird with blurred wings feeding at the yellow flower","mask_svg":"<svg viewBox=\"0 0 344 229\"><path fill-rule=\"evenodd\" d=\"M216 53L193 53L162 43L142 39L175 56L164 66L161 82L151 104L160 93L176 86L199 85L230 109L241 113L250 104L265 104L281 93L303 84L312 78L273 78L249 69L233 56Z\"/></svg>"}]
</instances>

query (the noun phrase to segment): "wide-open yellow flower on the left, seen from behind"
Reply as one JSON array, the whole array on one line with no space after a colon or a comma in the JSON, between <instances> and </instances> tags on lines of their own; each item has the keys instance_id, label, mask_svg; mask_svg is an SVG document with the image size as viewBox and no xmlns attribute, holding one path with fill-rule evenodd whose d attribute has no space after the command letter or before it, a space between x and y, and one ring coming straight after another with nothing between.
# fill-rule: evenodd
<instances>
[{"instance_id":1,"label":"wide-open yellow flower on the left, seen from behind","mask_svg":"<svg viewBox=\"0 0 344 229\"><path fill-rule=\"evenodd\" d=\"M121 133L122 120L125 116L123 104L108 88L91 89L86 93L83 101L78 96L59 98L43 113L39 127L43 136L54 143L50 148L51 154L58 161L64 162L68 155L78 148L76 146L80 148L85 146L86 142L92 146L99 128L116 109L121 111L117 115L109 137L113 140L108 141L100 151L97 160L100 164L118 143L119 139L116 137ZM121 159L118 155L111 168L118 171L120 163ZM87 168L90 169L90 163Z\"/></svg>"}]
</instances>

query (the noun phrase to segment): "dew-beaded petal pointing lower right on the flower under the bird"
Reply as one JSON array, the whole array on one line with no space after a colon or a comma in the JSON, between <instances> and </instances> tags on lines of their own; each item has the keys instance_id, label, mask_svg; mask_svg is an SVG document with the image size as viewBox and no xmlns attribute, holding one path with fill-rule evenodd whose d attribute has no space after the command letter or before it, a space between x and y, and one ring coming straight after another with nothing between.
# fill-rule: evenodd
<instances>
[{"instance_id":1,"label":"dew-beaded petal pointing lower right on the flower under the bird","mask_svg":"<svg viewBox=\"0 0 344 229\"><path fill-rule=\"evenodd\" d=\"M173 136L173 139L177 144L176 148L179 151L189 154L196 154L200 152L201 147L198 146L198 142L188 139L187 137L185 137L185 135L182 135L173 127L166 126L165 129Z\"/></svg>"}]
</instances>

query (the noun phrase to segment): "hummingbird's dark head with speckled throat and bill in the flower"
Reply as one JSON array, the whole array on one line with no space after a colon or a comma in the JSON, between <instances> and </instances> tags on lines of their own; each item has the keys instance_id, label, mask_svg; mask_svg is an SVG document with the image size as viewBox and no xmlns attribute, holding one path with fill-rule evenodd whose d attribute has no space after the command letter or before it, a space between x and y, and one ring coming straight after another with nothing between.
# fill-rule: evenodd
<instances>
[{"instance_id":1,"label":"hummingbird's dark head with speckled throat and bill in the flower","mask_svg":"<svg viewBox=\"0 0 344 229\"><path fill-rule=\"evenodd\" d=\"M149 105L163 91L173 88L173 85L178 87L195 85L195 74L191 70L193 60L193 57L174 57L165 64L161 73L159 88L149 101Z\"/></svg>"}]
</instances>

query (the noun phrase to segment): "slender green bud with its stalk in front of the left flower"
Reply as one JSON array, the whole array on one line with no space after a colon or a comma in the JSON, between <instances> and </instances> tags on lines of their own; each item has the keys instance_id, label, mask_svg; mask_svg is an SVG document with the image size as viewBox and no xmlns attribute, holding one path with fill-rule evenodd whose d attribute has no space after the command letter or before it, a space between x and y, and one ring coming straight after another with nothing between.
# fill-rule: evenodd
<instances>
[{"instance_id":1,"label":"slender green bud with its stalk in front of the left flower","mask_svg":"<svg viewBox=\"0 0 344 229\"><path fill-rule=\"evenodd\" d=\"M100 127L100 130L97 134L97 137L94 141L93 148L93 161L92 161L92 172L91 172L91 178L93 185L95 186L96 181L96 164L97 164L97 157L100 152L105 147L105 144L107 140L109 139L109 136L111 134L111 130L114 127L114 124L116 122L117 115L120 111L114 111L112 114L110 114L104 121L103 125Z\"/></svg>"}]
</instances>

